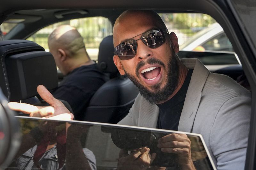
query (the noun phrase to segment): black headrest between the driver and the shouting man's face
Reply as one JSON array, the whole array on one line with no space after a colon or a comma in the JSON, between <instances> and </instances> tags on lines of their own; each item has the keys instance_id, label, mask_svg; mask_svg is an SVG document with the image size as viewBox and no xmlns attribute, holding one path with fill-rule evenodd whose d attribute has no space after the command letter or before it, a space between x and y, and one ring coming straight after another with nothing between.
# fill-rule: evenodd
<instances>
[{"instance_id":1,"label":"black headrest between the driver and the shouting man's face","mask_svg":"<svg viewBox=\"0 0 256 170\"><path fill-rule=\"evenodd\" d=\"M110 73L110 78L119 75L116 65L113 61L114 45L113 36L109 35L105 37L99 47L98 66L101 71Z\"/></svg>"}]
</instances>

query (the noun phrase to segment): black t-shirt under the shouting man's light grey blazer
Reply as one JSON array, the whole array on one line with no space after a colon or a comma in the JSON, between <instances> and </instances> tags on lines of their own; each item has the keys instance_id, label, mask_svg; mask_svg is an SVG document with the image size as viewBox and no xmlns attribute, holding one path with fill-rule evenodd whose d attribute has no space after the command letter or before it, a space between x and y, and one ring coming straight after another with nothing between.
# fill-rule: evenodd
<instances>
[{"instance_id":1,"label":"black t-shirt under the shouting man's light grey blazer","mask_svg":"<svg viewBox=\"0 0 256 170\"><path fill-rule=\"evenodd\" d=\"M159 115L156 128L178 130L180 115L182 112L192 73L193 69L189 69L180 90L170 100L161 104L157 104L157 106L159 107Z\"/></svg>"}]
</instances>

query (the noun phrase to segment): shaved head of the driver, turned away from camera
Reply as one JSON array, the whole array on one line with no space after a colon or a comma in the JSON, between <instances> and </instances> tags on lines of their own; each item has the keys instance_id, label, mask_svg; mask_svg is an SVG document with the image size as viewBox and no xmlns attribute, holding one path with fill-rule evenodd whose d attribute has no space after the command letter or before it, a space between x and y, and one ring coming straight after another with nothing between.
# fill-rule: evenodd
<instances>
[{"instance_id":1,"label":"shaved head of the driver, turned away from camera","mask_svg":"<svg viewBox=\"0 0 256 170\"><path fill-rule=\"evenodd\" d=\"M86 52L83 37L75 27L57 27L48 37L48 46L63 75L82 65L94 63Z\"/></svg>"}]
</instances>

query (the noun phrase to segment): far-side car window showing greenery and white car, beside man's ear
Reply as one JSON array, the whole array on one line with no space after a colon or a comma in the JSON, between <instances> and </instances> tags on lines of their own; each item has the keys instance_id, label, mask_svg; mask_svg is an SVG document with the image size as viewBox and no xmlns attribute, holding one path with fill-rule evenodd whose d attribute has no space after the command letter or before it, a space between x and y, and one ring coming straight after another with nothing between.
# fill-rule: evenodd
<instances>
[{"instance_id":1,"label":"far-side car window showing greenery and white car, beside man's ear","mask_svg":"<svg viewBox=\"0 0 256 170\"><path fill-rule=\"evenodd\" d=\"M200 13L161 13L169 32L178 36L180 50L233 51L222 27L209 15Z\"/></svg>"}]
</instances>

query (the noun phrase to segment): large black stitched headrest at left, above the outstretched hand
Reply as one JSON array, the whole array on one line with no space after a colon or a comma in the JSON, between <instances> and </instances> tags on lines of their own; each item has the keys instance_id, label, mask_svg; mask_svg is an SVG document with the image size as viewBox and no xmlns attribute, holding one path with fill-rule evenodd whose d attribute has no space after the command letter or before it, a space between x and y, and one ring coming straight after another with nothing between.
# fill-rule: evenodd
<instances>
[{"instance_id":1,"label":"large black stitched headrest at left, above the outstretched hand","mask_svg":"<svg viewBox=\"0 0 256 170\"><path fill-rule=\"evenodd\" d=\"M51 53L33 41L0 41L0 86L10 101L36 96L36 87L58 86L56 64Z\"/></svg>"}]
</instances>

